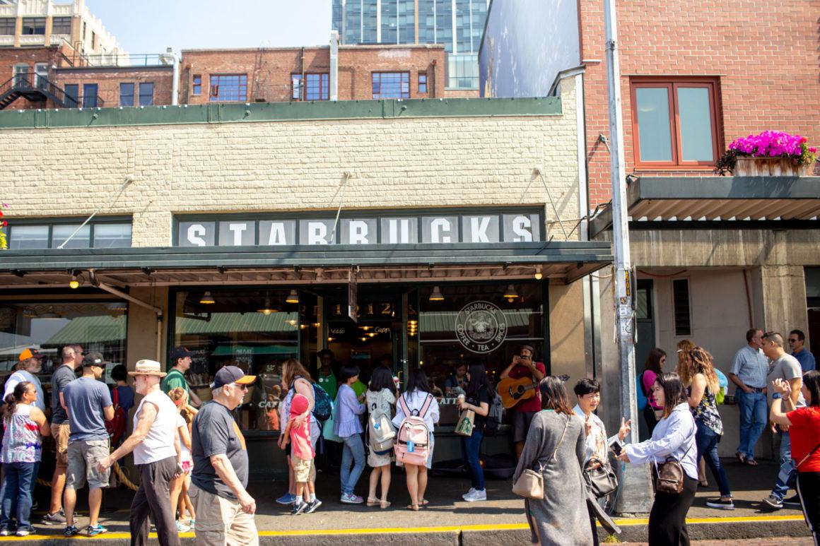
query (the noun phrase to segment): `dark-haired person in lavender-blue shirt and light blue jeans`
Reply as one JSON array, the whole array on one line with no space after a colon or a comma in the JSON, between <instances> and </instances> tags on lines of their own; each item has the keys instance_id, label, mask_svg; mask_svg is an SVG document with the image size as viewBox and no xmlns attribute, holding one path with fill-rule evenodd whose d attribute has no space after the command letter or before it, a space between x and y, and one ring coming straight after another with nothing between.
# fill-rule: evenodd
<instances>
[{"instance_id":1,"label":"dark-haired person in lavender-blue shirt and light blue jeans","mask_svg":"<svg viewBox=\"0 0 820 546\"><path fill-rule=\"evenodd\" d=\"M342 448L342 467L339 474L342 482L341 502L345 504L361 504L364 499L353 493L359 477L364 471L364 444L362 444L362 421L360 415L364 413L365 405L360 402L364 398L356 396L353 384L358 381L358 366L348 364L339 371L339 391L336 393L336 414L333 432L344 443ZM351 463L353 468L351 468Z\"/></svg>"}]
</instances>

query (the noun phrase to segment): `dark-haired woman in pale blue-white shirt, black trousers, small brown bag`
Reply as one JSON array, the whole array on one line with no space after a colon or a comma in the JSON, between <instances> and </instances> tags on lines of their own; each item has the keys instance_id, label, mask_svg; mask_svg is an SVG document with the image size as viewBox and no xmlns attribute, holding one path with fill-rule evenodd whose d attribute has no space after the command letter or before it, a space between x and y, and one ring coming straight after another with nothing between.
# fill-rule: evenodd
<instances>
[{"instance_id":1,"label":"dark-haired woman in pale blue-white shirt, black trousers, small brown bag","mask_svg":"<svg viewBox=\"0 0 820 546\"><path fill-rule=\"evenodd\" d=\"M663 464L668 457L681 463L684 471L683 491L679 494L655 492L655 502L649 513L649 546L688 546L686 512L695 500L698 489L698 465L695 462L695 418L689 411L686 390L677 374L658 374L652 384L652 394L663 416L652 431L652 438L640 444L626 445L623 462L640 465Z\"/></svg>"}]
</instances>

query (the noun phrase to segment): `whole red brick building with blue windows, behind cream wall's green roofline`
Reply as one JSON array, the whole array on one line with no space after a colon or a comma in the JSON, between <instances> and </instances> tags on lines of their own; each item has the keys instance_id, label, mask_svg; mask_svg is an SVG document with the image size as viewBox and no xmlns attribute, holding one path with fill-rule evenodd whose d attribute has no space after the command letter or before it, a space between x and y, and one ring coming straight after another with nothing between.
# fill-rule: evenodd
<instances>
[{"instance_id":1,"label":"whole red brick building with blue windows, behind cream wall's green roofline","mask_svg":"<svg viewBox=\"0 0 820 546\"><path fill-rule=\"evenodd\" d=\"M338 99L444 96L444 46L339 46ZM184 50L180 103L329 100L330 47Z\"/></svg>"}]
</instances>

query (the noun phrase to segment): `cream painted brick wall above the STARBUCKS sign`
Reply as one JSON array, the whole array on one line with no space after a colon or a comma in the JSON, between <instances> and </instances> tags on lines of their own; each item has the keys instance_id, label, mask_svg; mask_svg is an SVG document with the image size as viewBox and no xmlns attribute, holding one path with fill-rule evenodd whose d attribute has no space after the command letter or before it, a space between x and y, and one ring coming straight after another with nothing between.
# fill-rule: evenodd
<instances>
[{"instance_id":1,"label":"cream painted brick wall above the STARBUCKS sign","mask_svg":"<svg viewBox=\"0 0 820 546\"><path fill-rule=\"evenodd\" d=\"M8 130L0 128L0 197L8 219L134 216L133 245L171 244L175 213L328 210L344 171L347 208L540 204L578 213L572 80L563 116L276 121ZM567 227L567 231L570 227ZM576 232L577 233L577 232ZM558 226L549 234L562 239Z\"/></svg>"}]
</instances>

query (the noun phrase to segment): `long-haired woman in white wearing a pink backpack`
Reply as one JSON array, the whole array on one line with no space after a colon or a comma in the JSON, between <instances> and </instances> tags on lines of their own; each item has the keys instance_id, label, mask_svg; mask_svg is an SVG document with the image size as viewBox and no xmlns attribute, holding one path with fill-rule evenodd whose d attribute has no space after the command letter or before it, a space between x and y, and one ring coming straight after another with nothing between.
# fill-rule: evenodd
<instances>
[{"instance_id":1,"label":"long-haired woman in white wearing a pink backpack","mask_svg":"<svg viewBox=\"0 0 820 546\"><path fill-rule=\"evenodd\" d=\"M407 389L399 397L393 424L399 427L394 451L396 465L407 473L409 510L418 511L428 504L427 469L433 464L433 428L439 422L439 403L430 394L427 375L417 368L410 372Z\"/></svg>"}]
</instances>

